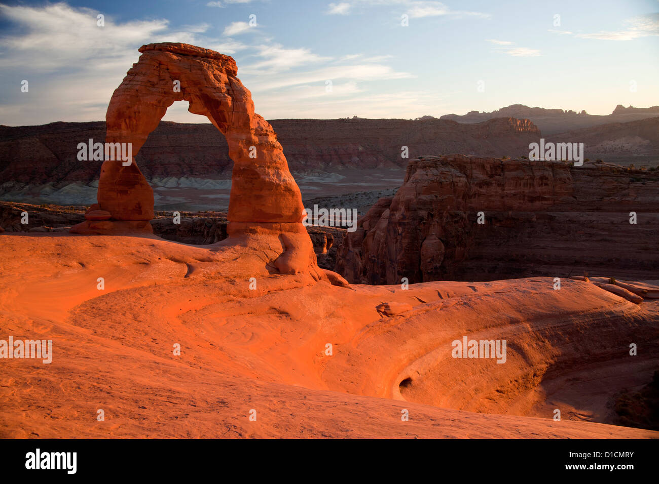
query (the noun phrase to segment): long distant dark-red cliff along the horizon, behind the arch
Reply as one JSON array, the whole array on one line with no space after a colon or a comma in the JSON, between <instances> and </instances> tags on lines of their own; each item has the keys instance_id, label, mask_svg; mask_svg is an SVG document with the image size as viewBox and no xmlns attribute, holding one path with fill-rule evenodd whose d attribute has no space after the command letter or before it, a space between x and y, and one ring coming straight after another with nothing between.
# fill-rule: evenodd
<instances>
[{"instance_id":1,"label":"long distant dark-red cliff along the horizon, behind the arch","mask_svg":"<svg viewBox=\"0 0 659 484\"><path fill-rule=\"evenodd\" d=\"M468 125L438 119L281 119L271 123L296 176L393 169L402 178L407 161L420 155L516 156L527 153L529 143L540 137L532 122L512 118ZM94 203L101 161L77 159L78 143L90 138L105 141L105 122L0 126L0 200ZM401 157L403 146L409 151L407 158ZM136 161L152 185L162 190L185 188L188 200L194 188L227 190L233 167L225 138L210 123L160 122Z\"/></svg>"}]
</instances>

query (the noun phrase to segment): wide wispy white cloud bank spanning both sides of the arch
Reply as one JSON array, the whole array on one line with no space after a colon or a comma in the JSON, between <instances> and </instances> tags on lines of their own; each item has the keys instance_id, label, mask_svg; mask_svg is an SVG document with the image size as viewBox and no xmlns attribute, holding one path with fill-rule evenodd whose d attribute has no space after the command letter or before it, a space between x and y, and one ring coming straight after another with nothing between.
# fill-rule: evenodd
<instances>
[{"instance_id":1,"label":"wide wispy white cloud bank spanning both sides of the arch","mask_svg":"<svg viewBox=\"0 0 659 484\"><path fill-rule=\"evenodd\" d=\"M389 55L330 57L263 38L250 43L212 37L208 24L172 28L164 18L121 22L105 15L105 26L98 27L98 14L65 3L0 4L0 18L7 24L0 36L0 71L7 79L30 82L28 93L21 93L18 84L0 91L0 124L104 119L113 91L140 56L138 47L163 41L239 53L241 80L252 92L257 112L269 117L391 117L408 111L416 117L416 109L432 111L413 94L374 94L384 89L384 82L415 77L387 65ZM327 80L333 84L331 93L325 90ZM382 105L387 99L391 106ZM186 108L187 103L175 103L165 119L206 121Z\"/></svg>"}]
</instances>

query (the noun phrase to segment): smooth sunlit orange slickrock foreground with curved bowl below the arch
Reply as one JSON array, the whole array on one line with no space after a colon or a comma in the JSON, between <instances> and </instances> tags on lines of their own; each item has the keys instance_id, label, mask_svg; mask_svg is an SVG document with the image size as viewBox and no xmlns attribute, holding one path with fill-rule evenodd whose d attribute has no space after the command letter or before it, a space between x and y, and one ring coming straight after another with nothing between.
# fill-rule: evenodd
<instances>
[{"instance_id":1,"label":"smooth sunlit orange slickrock foreground with curved bowl below the arch","mask_svg":"<svg viewBox=\"0 0 659 484\"><path fill-rule=\"evenodd\" d=\"M603 425L616 423L617 392L652 379L656 300L569 279L554 290L549 277L405 290L247 277L261 255L155 237L0 236L9 334L51 339L55 355L2 363L0 437L659 435ZM407 310L383 317L383 302ZM455 358L465 337L507 349ZM97 408L111 409L105 422Z\"/></svg>"}]
</instances>

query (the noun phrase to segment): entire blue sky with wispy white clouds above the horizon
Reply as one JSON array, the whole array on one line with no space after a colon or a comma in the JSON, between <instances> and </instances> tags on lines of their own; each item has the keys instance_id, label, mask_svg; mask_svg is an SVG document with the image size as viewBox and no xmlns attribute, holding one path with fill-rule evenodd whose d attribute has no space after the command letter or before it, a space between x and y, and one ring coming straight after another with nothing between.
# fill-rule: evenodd
<instances>
[{"instance_id":1,"label":"entire blue sky with wispy white clouds above the horizon","mask_svg":"<svg viewBox=\"0 0 659 484\"><path fill-rule=\"evenodd\" d=\"M658 0L0 0L0 124L102 121L163 41L231 55L266 119L659 105Z\"/></svg>"}]
</instances>

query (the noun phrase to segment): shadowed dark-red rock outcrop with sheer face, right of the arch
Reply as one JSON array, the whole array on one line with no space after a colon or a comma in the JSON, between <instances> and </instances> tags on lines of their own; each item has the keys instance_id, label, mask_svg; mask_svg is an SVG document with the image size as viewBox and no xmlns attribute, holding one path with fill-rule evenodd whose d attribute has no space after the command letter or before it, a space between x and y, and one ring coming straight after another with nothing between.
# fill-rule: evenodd
<instances>
[{"instance_id":1,"label":"shadowed dark-red rock outcrop with sheer face, right of the arch","mask_svg":"<svg viewBox=\"0 0 659 484\"><path fill-rule=\"evenodd\" d=\"M604 163L421 157L347 234L336 270L367 284L656 279L658 192L659 176Z\"/></svg>"}]
</instances>

